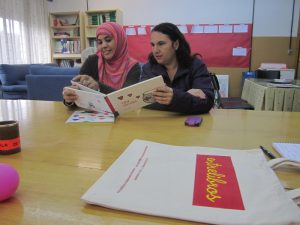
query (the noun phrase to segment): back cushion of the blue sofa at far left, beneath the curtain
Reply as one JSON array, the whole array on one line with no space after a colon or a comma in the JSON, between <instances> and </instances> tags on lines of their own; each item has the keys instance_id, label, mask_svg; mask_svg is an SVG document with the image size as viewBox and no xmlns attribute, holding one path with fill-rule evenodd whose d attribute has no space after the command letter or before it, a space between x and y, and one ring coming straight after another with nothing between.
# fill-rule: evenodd
<instances>
[{"instance_id":1,"label":"back cushion of the blue sofa at far left, beneath the curtain","mask_svg":"<svg viewBox=\"0 0 300 225\"><path fill-rule=\"evenodd\" d=\"M29 73L28 64L2 64L0 79L3 85L14 85L18 81L25 81L26 74Z\"/></svg>"}]
</instances>

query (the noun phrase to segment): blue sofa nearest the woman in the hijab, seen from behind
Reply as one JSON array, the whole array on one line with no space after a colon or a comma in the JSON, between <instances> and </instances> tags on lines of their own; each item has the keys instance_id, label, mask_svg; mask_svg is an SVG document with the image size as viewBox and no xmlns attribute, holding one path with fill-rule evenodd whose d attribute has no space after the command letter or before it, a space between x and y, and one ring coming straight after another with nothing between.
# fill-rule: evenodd
<instances>
[{"instance_id":1,"label":"blue sofa nearest the woman in the hijab, seen from behind","mask_svg":"<svg viewBox=\"0 0 300 225\"><path fill-rule=\"evenodd\" d=\"M62 101L63 88L71 85L79 70L79 67L31 66L26 76L28 99Z\"/></svg>"}]
</instances>

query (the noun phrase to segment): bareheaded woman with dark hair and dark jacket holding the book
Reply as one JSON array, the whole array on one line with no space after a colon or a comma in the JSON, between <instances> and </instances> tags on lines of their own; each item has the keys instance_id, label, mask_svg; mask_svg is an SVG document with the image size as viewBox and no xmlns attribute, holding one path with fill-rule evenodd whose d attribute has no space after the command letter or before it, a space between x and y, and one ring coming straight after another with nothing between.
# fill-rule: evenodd
<instances>
[{"instance_id":1,"label":"bareheaded woman with dark hair and dark jacket holding the book","mask_svg":"<svg viewBox=\"0 0 300 225\"><path fill-rule=\"evenodd\" d=\"M206 65L191 50L176 25L161 23L151 31L152 53L143 66L141 80L162 75L165 86L154 93L148 108L186 114L207 113L214 104L214 90Z\"/></svg>"}]
</instances>

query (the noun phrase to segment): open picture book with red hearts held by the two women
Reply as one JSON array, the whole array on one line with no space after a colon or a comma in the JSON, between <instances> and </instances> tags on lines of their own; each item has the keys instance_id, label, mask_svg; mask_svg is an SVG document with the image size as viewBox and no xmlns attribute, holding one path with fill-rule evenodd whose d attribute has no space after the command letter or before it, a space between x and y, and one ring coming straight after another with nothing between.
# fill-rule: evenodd
<instances>
[{"instance_id":1,"label":"open picture book with red hearts held by the two women","mask_svg":"<svg viewBox=\"0 0 300 225\"><path fill-rule=\"evenodd\" d=\"M125 87L110 94L103 94L79 83L72 82L78 89L67 87L79 96L76 105L91 111L108 112L114 115L139 109L154 102L152 92L164 85L162 76Z\"/></svg>"}]
</instances>

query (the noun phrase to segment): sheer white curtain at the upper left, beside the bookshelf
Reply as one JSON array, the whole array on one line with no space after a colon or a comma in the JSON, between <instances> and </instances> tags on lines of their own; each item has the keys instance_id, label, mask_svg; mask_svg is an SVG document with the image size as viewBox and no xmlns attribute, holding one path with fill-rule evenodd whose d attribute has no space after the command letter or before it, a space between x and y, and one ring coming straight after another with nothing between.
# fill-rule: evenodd
<instances>
[{"instance_id":1,"label":"sheer white curtain at the upper left, beside the bookshelf","mask_svg":"<svg viewBox=\"0 0 300 225\"><path fill-rule=\"evenodd\" d=\"M0 0L0 64L48 63L46 0Z\"/></svg>"}]
</instances>

